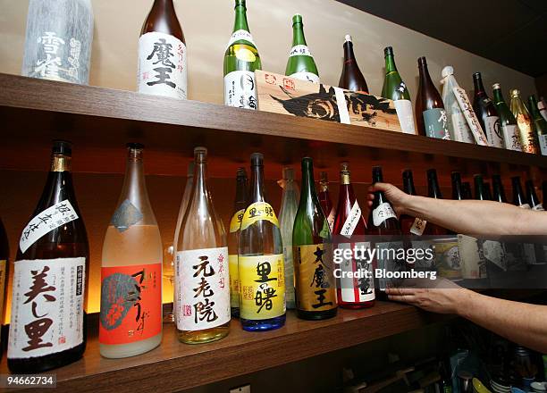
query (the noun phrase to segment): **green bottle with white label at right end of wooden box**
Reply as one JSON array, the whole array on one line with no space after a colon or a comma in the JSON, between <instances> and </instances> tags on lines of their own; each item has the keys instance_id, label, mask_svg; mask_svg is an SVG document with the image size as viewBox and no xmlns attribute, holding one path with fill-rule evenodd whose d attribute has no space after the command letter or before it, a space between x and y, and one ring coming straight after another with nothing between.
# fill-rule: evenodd
<instances>
[{"instance_id":1,"label":"green bottle with white label at right end of wooden box","mask_svg":"<svg viewBox=\"0 0 547 393\"><path fill-rule=\"evenodd\" d=\"M382 96L393 100L402 131L405 134L416 134L410 94L395 66L393 48L391 46L384 48L383 54L385 57L385 78L383 79Z\"/></svg>"}]
</instances>

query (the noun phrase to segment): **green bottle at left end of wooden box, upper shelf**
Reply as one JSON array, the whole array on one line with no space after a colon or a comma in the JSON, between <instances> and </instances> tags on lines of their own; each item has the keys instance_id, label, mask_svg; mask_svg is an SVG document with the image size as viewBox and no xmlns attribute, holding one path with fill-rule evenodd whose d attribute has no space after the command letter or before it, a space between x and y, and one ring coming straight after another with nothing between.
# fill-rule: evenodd
<instances>
[{"instance_id":1,"label":"green bottle at left end of wooden box, upper shelf","mask_svg":"<svg viewBox=\"0 0 547 393\"><path fill-rule=\"evenodd\" d=\"M248 30L245 0L235 2L235 22L224 54L224 105L257 109L255 71L262 69L257 46Z\"/></svg>"}]
</instances>

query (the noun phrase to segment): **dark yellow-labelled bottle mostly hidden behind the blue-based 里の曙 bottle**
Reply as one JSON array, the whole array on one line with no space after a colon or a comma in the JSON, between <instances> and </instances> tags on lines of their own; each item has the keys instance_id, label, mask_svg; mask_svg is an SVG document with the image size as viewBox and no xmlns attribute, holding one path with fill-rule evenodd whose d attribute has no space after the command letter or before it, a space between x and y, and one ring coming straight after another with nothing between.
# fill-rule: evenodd
<instances>
[{"instance_id":1,"label":"dark yellow-labelled bottle mostly hidden behind the blue-based \u91cc\u306e\u66d9 bottle","mask_svg":"<svg viewBox=\"0 0 547 393\"><path fill-rule=\"evenodd\" d=\"M228 234L228 260L230 261L230 307L231 316L240 316L240 274L238 272L238 244L240 225L247 207L247 172L238 168L236 174L236 197Z\"/></svg>"}]
</instances>

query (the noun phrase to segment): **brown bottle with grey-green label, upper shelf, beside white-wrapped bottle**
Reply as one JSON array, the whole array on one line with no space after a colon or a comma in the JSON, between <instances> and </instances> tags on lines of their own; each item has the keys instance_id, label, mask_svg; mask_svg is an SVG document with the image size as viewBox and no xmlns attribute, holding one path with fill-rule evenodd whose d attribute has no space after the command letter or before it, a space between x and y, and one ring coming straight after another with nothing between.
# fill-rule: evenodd
<instances>
[{"instance_id":1,"label":"brown bottle with grey-green label, upper shelf, beside white-wrapped bottle","mask_svg":"<svg viewBox=\"0 0 547 393\"><path fill-rule=\"evenodd\" d=\"M416 97L418 133L430 138L450 139L442 98L429 76L425 57L418 59L418 70L420 72Z\"/></svg>"}]
</instances>

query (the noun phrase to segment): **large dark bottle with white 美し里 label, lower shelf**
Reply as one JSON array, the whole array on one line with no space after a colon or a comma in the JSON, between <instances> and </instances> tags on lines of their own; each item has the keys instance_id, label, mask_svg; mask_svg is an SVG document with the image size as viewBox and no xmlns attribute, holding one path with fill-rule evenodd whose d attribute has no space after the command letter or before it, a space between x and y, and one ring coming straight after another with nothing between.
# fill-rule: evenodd
<instances>
[{"instance_id":1,"label":"large dark bottle with white \u7f8e\u3057\u91cc label, lower shelf","mask_svg":"<svg viewBox=\"0 0 547 393\"><path fill-rule=\"evenodd\" d=\"M72 143L55 140L46 187L19 241L7 351L14 373L71 364L86 347L89 246L71 159ZM42 334L27 333L34 329Z\"/></svg>"}]
</instances>

